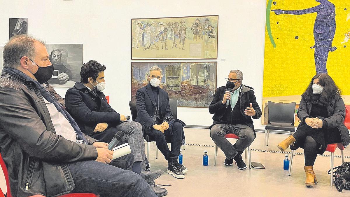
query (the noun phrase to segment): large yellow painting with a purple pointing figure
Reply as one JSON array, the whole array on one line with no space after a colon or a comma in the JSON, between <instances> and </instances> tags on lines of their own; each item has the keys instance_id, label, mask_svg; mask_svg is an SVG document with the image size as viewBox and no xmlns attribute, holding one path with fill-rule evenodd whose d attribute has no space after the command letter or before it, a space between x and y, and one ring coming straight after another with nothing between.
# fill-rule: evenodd
<instances>
[{"instance_id":1,"label":"large yellow painting with a purple pointing figure","mask_svg":"<svg viewBox=\"0 0 350 197\"><path fill-rule=\"evenodd\" d=\"M263 106L298 103L316 73L328 73L350 103L349 38L349 0L267 0Z\"/></svg>"}]
</instances>

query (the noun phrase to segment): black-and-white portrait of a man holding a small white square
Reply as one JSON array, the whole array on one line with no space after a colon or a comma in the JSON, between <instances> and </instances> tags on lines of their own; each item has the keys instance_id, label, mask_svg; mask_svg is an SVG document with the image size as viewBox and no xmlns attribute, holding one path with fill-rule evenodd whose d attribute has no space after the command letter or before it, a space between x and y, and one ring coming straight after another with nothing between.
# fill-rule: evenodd
<instances>
[{"instance_id":1,"label":"black-and-white portrait of a man holding a small white square","mask_svg":"<svg viewBox=\"0 0 350 197\"><path fill-rule=\"evenodd\" d=\"M54 87L73 87L80 81L83 44L46 44L54 74L48 81Z\"/></svg>"}]
</instances>

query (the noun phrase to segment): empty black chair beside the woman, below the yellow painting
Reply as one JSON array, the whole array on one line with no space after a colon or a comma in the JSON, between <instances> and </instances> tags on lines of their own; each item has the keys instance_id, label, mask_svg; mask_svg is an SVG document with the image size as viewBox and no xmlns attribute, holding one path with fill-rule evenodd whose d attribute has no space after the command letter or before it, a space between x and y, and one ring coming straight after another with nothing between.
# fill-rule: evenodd
<instances>
[{"instance_id":1,"label":"empty black chair beside the woman, below the yellow painting","mask_svg":"<svg viewBox=\"0 0 350 197\"><path fill-rule=\"evenodd\" d=\"M265 150L268 146L268 136L270 130L295 132L294 115L295 102L292 103L274 103L267 102L268 123L265 126Z\"/></svg>"}]
</instances>

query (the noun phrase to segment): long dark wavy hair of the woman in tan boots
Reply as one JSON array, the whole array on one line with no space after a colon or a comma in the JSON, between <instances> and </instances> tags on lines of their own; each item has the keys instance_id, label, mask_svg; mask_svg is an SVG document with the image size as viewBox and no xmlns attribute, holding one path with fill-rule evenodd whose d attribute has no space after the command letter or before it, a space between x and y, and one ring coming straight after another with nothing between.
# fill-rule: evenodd
<instances>
[{"instance_id":1,"label":"long dark wavy hair of the woman in tan boots","mask_svg":"<svg viewBox=\"0 0 350 197\"><path fill-rule=\"evenodd\" d=\"M318 79L320 85L323 86L323 91L320 96L318 96L317 94L314 94L312 91L312 85L313 85L314 79ZM340 95L341 90L335 84L332 77L330 77L326 73L322 73L312 77L309 86L306 88L305 92L301 95L301 98L307 101L319 100L323 104L328 104L330 97L334 96L335 94Z\"/></svg>"}]
</instances>

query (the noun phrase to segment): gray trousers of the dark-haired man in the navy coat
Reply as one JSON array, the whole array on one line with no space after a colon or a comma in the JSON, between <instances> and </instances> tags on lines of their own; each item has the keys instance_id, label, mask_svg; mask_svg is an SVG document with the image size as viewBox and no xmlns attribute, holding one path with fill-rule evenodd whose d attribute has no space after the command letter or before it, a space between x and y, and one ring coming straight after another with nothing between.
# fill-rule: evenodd
<instances>
[{"instance_id":1,"label":"gray trousers of the dark-haired man in the navy coat","mask_svg":"<svg viewBox=\"0 0 350 197\"><path fill-rule=\"evenodd\" d=\"M145 155L145 141L142 135L141 124L134 121L127 121L119 124L116 128L125 134L118 145L127 142L134 155L134 162L142 161L141 168L148 169L146 164L149 165L149 163Z\"/></svg>"}]
</instances>

